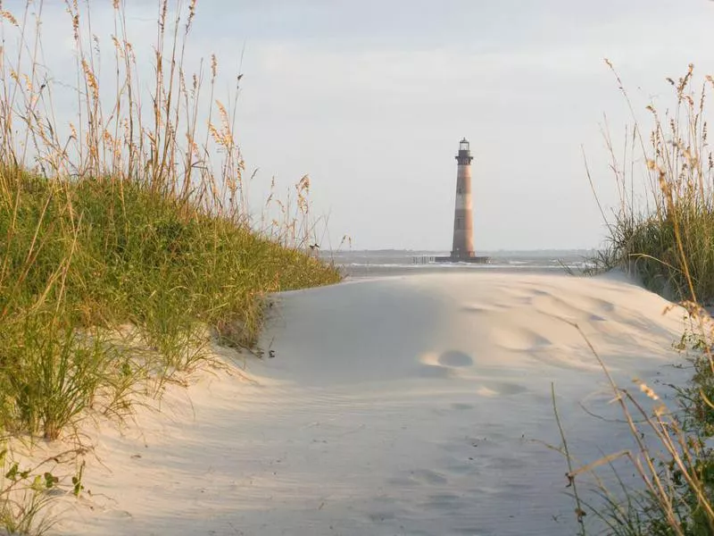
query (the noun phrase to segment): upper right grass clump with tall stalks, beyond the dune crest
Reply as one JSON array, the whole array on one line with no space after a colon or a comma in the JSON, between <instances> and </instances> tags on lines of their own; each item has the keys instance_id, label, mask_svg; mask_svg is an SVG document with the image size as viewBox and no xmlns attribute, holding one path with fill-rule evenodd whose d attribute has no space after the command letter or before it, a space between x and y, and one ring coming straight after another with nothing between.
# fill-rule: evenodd
<instances>
[{"instance_id":1,"label":"upper right grass clump with tall stalks, beyond the dune crest","mask_svg":"<svg viewBox=\"0 0 714 536\"><path fill-rule=\"evenodd\" d=\"M625 150L631 162L618 163L607 138L620 207L608 222L607 255L599 264L634 271L647 288L672 299L695 295L709 304L714 300L714 160L706 104L714 80L694 82L693 65L685 76L667 80L676 104L663 115L655 105L646 106L652 129L647 136L635 123L628 140L632 147ZM623 88L619 77L618 83ZM636 165L640 158L643 168ZM633 172L628 175L627 169ZM634 185L636 169L645 177L643 191Z\"/></svg>"}]
</instances>

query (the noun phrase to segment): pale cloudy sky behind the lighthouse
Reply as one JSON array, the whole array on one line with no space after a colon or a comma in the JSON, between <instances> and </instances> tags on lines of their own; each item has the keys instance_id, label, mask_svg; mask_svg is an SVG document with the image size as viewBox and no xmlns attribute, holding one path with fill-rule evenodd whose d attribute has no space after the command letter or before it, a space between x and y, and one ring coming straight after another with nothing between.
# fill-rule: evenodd
<instances>
[{"instance_id":1,"label":"pale cloudy sky behind the lighthouse","mask_svg":"<svg viewBox=\"0 0 714 536\"><path fill-rule=\"evenodd\" d=\"M127 5L149 62L157 4ZM93 3L99 35L110 6ZM603 121L617 152L632 124L603 58L646 126L645 105L674 103L666 77L714 74L712 28L709 0L199 0L189 59L216 54L226 88L244 75L251 197L308 174L328 245L448 251L466 137L477 251L598 247L583 151L608 213Z\"/></svg>"}]
</instances>

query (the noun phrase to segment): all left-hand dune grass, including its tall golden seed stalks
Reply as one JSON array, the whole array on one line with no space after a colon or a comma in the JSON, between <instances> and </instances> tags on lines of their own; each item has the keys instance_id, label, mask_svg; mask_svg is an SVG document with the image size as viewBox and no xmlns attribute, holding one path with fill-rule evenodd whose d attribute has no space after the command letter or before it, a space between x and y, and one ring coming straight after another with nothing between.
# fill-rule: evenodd
<instances>
[{"instance_id":1,"label":"all left-hand dune grass, including its tall golden seed stalks","mask_svg":"<svg viewBox=\"0 0 714 536\"><path fill-rule=\"evenodd\" d=\"M129 43L120 0L116 32L102 40L87 7L64 7L77 80L67 124L55 120L54 73L41 54L45 4L0 7L0 32L17 44L0 47L5 439L56 440L91 413L126 415L137 392L159 394L156 385L200 362L211 339L253 347L270 293L341 278L307 247L316 225L307 177L294 206L256 226L233 134L236 103L214 95L218 60L195 73L185 64L195 0L156 2L148 61ZM100 88L104 38L115 80ZM128 326L131 345L122 339ZM5 481L14 466L0 456ZM42 532L45 489L33 481L23 488L37 488L31 501L18 502L11 492L31 475L21 476L0 488L0 530Z\"/></svg>"}]
</instances>

